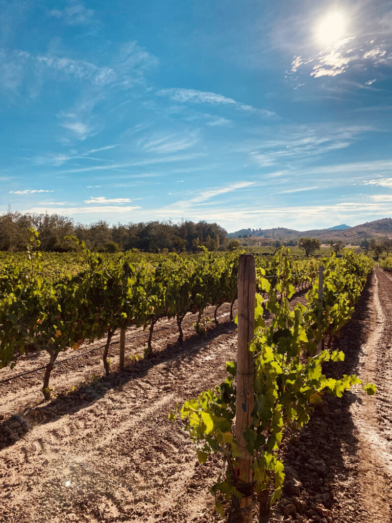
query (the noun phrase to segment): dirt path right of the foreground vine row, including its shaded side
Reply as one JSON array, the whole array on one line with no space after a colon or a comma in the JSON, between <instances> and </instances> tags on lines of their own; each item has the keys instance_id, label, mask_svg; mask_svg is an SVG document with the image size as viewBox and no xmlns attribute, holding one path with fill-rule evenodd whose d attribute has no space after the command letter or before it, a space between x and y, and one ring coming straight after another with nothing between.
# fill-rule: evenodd
<instances>
[{"instance_id":1,"label":"dirt path right of the foreground vine row, including its shaded side","mask_svg":"<svg viewBox=\"0 0 392 523\"><path fill-rule=\"evenodd\" d=\"M327 375L355 373L377 385L326 398L285 449L285 495L276 517L320 523L392 521L392 274L378 267L342 328L336 348L345 360Z\"/></svg>"}]
</instances>

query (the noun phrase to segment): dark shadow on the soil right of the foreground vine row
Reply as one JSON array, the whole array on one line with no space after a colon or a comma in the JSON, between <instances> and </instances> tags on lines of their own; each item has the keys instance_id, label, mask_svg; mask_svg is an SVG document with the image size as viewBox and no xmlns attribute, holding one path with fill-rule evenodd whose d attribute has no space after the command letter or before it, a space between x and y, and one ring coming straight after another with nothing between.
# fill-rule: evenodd
<instances>
[{"instance_id":1,"label":"dark shadow on the soil right of the foreground vine row","mask_svg":"<svg viewBox=\"0 0 392 523\"><path fill-rule=\"evenodd\" d=\"M327 377L357 372L361 345L365 342L370 323L371 279L366 283L350 322L341 329L333 343L345 354L343 362L328 362ZM280 510L287 521L319 521L320 523L358 521L358 506L345 512L340 505L342 496L355 492L356 453L358 439L350 406L361 401L353 392L341 399L327 396L313 412L309 424L293 438L285 449L286 482ZM343 454L344 451L344 454ZM339 492L335 491L339 484ZM353 499L354 502L354 499Z\"/></svg>"}]
</instances>

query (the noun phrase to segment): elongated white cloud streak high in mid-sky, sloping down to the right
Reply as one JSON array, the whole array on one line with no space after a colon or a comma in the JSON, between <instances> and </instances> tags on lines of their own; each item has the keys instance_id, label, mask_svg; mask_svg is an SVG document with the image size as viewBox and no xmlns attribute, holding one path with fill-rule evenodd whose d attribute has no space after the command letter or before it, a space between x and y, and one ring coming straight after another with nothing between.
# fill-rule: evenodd
<instances>
[{"instance_id":1,"label":"elongated white cloud streak high in mid-sky, sloping down to the right","mask_svg":"<svg viewBox=\"0 0 392 523\"><path fill-rule=\"evenodd\" d=\"M247 112L259 112L264 116L275 116L273 111L258 109L251 105L240 103L233 98L228 98L227 96L208 91L171 87L169 89L159 90L157 95L168 96L171 100L180 103L191 102L193 104L228 105Z\"/></svg>"}]
</instances>

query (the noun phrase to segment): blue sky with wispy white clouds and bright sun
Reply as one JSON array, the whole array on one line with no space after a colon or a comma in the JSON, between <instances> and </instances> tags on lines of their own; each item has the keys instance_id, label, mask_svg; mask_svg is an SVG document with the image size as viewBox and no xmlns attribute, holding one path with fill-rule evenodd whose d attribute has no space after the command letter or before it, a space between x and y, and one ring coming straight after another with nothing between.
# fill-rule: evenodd
<instances>
[{"instance_id":1,"label":"blue sky with wispy white clouds and bright sun","mask_svg":"<svg viewBox=\"0 0 392 523\"><path fill-rule=\"evenodd\" d=\"M0 0L0 213L392 217L389 0Z\"/></svg>"}]
</instances>

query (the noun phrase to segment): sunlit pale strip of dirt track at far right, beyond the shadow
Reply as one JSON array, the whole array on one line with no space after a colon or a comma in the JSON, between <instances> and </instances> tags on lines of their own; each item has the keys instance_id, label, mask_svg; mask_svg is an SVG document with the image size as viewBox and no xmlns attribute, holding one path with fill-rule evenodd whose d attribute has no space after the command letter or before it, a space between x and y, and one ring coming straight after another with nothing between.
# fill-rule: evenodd
<instances>
[{"instance_id":1,"label":"sunlit pale strip of dirt track at far right, beyond the shadow","mask_svg":"<svg viewBox=\"0 0 392 523\"><path fill-rule=\"evenodd\" d=\"M392 283L378 267L373 272L372 280L371 323L367 340L361 347L358 369L364 382L377 385L377 394L367 396L362 390L357 390L357 401L351 406L354 426L358 430L358 484L367 523L392 521L389 488L386 488L387 478L392 477L392 448L380 423L380 413L385 412L386 407L390 413L392 407L391 386L388 383L388 374L390 376L392 372L392 317L389 313L392 302L391 294L386 296L385 292L381 292L381 288L386 285L392 289ZM385 397L386 388L389 391L388 398Z\"/></svg>"}]
</instances>

